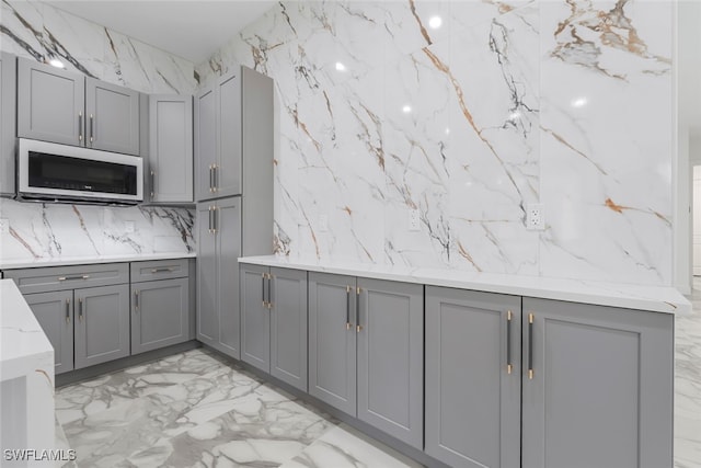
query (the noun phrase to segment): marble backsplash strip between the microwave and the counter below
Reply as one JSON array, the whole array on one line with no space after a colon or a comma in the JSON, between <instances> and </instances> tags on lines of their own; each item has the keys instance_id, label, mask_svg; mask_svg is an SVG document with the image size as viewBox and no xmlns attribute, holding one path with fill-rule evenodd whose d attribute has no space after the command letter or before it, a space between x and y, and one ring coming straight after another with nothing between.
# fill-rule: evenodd
<instances>
[{"instance_id":1,"label":"marble backsplash strip between the microwave and the counter below","mask_svg":"<svg viewBox=\"0 0 701 468\"><path fill-rule=\"evenodd\" d=\"M185 208L0 199L0 213L9 220L0 232L3 262L195 251L194 210Z\"/></svg>"}]
</instances>

